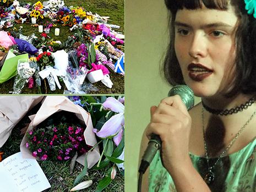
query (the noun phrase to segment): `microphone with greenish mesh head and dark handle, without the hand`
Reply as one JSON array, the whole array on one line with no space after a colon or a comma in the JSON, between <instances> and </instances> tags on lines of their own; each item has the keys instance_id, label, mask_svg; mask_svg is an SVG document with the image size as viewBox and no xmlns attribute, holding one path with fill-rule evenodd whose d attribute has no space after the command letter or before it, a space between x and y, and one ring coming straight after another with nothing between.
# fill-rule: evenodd
<instances>
[{"instance_id":1,"label":"microphone with greenish mesh head and dark handle, without the hand","mask_svg":"<svg viewBox=\"0 0 256 192\"><path fill-rule=\"evenodd\" d=\"M186 105L189 110L194 106L194 93L187 85L176 85L168 92L168 96L179 95L182 99L184 105ZM145 173L149 164L153 160L157 150L161 148L162 141L159 135L151 134L151 138L148 143L143 157L141 158L139 173Z\"/></svg>"}]
</instances>

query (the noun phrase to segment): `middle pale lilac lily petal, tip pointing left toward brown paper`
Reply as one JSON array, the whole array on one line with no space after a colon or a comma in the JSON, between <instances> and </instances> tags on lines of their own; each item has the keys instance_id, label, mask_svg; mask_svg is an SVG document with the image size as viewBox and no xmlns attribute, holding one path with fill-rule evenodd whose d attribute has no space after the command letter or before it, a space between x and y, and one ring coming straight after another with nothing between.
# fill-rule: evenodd
<instances>
[{"instance_id":1,"label":"middle pale lilac lily petal, tip pointing left toward brown paper","mask_svg":"<svg viewBox=\"0 0 256 192\"><path fill-rule=\"evenodd\" d=\"M96 132L97 129L94 129L94 133L96 133L100 138L107 138L108 136L117 134L123 125L124 114L118 113L108 119L99 132Z\"/></svg>"}]
</instances>

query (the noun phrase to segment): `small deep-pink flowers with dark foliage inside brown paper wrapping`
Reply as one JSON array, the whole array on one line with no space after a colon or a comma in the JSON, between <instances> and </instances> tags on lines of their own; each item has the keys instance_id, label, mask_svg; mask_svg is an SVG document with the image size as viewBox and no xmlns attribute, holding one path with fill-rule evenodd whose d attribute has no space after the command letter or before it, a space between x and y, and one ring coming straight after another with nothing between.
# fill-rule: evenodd
<instances>
[{"instance_id":1,"label":"small deep-pink flowers with dark foliage inside brown paper wrapping","mask_svg":"<svg viewBox=\"0 0 256 192\"><path fill-rule=\"evenodd\" d=\"M76 153L80 156L90 150L91 147L84 142L84 130L67 123L37 128L27 133L26 147L40 160L67 161Z\"/></svg>"}]
</instances>

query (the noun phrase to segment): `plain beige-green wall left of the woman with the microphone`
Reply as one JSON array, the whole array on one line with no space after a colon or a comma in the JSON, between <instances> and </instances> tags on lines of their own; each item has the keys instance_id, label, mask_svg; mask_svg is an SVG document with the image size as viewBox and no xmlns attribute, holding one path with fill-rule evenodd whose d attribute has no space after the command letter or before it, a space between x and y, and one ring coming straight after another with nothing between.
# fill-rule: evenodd
<instances>
[{"instance_id":1,"label":"plain beige-green wall left of the woman with the microphone","mask_svg":"<svg viewBox=\"0 0 256 192\"><path fill-rule=\"evenodd\" d=\"M126 1L125 191L137 191L140 139L149 123L149 108L167 96L170 86L159 65L168 43L164 0Z\"/></svg>"}]
</instances>

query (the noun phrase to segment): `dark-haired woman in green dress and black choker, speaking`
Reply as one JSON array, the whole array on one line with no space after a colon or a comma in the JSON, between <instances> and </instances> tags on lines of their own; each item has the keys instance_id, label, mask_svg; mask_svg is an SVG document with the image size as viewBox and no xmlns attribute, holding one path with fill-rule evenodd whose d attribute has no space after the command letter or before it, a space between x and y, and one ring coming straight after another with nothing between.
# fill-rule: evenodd
<instances>
[{"instance_id":1,"label":"dark-haired woman in green dress and black choker, speaking","mask_svg":"<svg viewBox=\"0 0 256 192\"><path fill-rule=\"evenodd\" d=\"M188 112L172 96L151 107L141 155L152 133L162 148L143 191L256 191L256 1L165 3L165 77L187 84L202 102Z\"/></svg>"}]
</instances>

